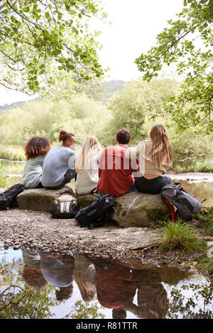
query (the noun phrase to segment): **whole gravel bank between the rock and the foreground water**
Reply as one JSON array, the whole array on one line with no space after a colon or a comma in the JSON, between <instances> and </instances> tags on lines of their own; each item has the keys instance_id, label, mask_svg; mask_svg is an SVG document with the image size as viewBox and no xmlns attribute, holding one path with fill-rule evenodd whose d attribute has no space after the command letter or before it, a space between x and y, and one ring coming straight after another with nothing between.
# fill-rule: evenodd
<instances>
[{"instance_id":1,"label":"whole gravel bank between the rock and the foreground water","mask_svg":"<svg viewBox=\"0 0 213 333\"><path fill-rule=\"evenodd\" d=\"M78 252L107 259L137 259L144 264L166 264L196 271L194 264L202 253L162 252L153 244L160 230L146 227L119 227L108 223L88 230L73 219L55 220L50 213L13 208L0 213L0 248Z\"/></svg>"}]
</instances>

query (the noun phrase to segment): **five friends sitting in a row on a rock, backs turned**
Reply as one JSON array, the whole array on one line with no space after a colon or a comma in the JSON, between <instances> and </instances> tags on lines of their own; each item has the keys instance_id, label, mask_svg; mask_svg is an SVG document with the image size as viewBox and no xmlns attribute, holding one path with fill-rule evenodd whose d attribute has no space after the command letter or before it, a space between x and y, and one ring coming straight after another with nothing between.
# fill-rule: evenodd
<instances>
[{"instance_id":1,"label":"five friends sitting in a row on a rock, backs turned","mask_svg":"<svg viewBox=\"0 0 213 333\"><path fill-rule=\"evenodd\" d=\"M110 193L122 196L131 191L160 193L170 176L164 175L173 162L173 147L163 125L155 125L151 140L129 147L131 133L116 132L116 145L102 149L89 135L77 156L75 135L60 130L62 145L50 149L45 137L32 137L25 146L26 164L21 183L25 188L59 189L75 178L78 195ZM139 172L140 171L140 172Z\"/></svg>"}]
</instances>

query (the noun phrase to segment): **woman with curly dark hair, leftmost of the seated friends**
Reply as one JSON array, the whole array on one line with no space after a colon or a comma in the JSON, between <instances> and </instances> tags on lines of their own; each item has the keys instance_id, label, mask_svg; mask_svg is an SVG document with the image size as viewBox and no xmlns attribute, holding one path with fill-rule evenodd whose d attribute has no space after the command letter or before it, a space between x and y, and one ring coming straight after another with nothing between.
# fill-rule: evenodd
<instances>
[{"instance_id":1,"label":"woman with curly dark hair, leftmost of the seated friends","mask_svg":"<svg viewBox=\"0 0 213 333\"><path fill-rule=\"evenodd\" d=\"M43 187L40 182L43 162L50 148L50 140L46 137L31 137L24 146L26 163L23 169L21 184L25 188Z\"/></svg>"}]
</instances>

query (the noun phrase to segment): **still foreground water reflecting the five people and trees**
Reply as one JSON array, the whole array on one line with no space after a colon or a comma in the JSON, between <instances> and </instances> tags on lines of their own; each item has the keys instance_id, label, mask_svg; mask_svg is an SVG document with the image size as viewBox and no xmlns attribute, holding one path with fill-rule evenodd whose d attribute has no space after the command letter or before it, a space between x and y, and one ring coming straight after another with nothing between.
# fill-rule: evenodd
<instances>
[{"instance_id":1,"label":"still foreground water reflecting the five people and trees","mask_svg":"<svg viewBox=\"0 0 213 333\"><path fill-rule=\"evenodd\" d=\"M138 261L0 252L0 318L212 318L213 279Z\"/></svg>"}]
</instances>

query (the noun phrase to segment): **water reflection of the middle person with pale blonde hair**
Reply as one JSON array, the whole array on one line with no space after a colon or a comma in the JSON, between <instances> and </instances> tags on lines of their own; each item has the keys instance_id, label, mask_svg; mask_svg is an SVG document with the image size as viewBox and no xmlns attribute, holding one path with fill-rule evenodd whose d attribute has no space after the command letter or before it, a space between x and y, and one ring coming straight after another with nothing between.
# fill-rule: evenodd
<instances>
[{"instance_id":1,"label":"water reflection of the middle person with pale blonde hair","mask_svg":"<svg viewBox=\"0 0 213 333\"><path fill-rule=\"evenodd\" d=\"M84 302L90 302L96 294L94 264L81 254L75 255L74 279Z\"/></svg>"}]
</instances>

